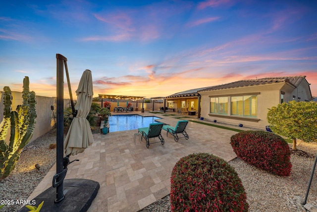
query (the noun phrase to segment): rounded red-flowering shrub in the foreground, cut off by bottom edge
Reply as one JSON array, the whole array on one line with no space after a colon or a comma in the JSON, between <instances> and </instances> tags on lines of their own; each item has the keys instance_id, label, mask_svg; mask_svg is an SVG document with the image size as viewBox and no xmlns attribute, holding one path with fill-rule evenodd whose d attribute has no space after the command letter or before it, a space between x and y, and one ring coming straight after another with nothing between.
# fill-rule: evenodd
<instances>
[{"instance_id":1,"label":"rounded red-flowering shrub in the foreground, cut off by bottom edge","mask_svg":"<svg viewBox=\"0 0 317 212\"><path fill-rule=\"evenodd\" d=\"M236 171L208 153L182 157L171 178L172 212L247 212L249 205Z\"/></svg>"}]
</instances>

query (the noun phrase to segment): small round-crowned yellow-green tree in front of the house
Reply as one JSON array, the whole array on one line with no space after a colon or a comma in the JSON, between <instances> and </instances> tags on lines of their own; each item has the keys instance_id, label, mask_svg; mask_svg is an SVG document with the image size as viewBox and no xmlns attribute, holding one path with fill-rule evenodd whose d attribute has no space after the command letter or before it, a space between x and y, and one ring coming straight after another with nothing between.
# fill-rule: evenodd
<instances>
[{"instance_id":1,"label":"small round-crowned yellow-green tree in front of the house","mask_svg":"<svg viewBox=\"0 0 317 212\"><path fill-rule=\"evenodd\" d=\"M317 103L315 102L283 102L269 109L267 121L274 133L293 140L294 150L297 150L296 139L305 142L317 141Z\"/></svg>"}]
</instances>

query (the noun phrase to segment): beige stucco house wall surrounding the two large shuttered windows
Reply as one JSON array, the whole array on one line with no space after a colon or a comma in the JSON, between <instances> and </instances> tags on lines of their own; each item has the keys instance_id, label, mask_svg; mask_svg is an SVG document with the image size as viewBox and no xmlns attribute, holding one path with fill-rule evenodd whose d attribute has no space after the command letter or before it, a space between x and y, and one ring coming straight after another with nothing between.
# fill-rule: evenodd
<instances>
[{"instance_id":1,"label":"beige stucco house wall surrounding the two large shuttered windows","mask_svg":"<svg viewBox=\"0 0 317 212\"><path fill-rule=\"evenodd\" d=\"M260 129L265 129L265 126L268 125L268 122L266 120L268 109L281 103L282 97L284 102L288 102L291 100L312 100L312 94L309 87L309 83L306 81L305 77L302 81L296 84L296 86L292 83L288 83L287 81L279 81L260 85L242 86L198 92L201 95L202 102L201 117L204 117L204 119L211 121L217 120L217 122L229 124L236 124L237 126L239 124L243 124L247 127L256 127ZM258 96L257 117L250 118L231 115L231 97L237 95L252 94ZM210 111L210 98L219 96L228 96L227 115L218 115L211 113Z\"/></svg>"}]
</instances>

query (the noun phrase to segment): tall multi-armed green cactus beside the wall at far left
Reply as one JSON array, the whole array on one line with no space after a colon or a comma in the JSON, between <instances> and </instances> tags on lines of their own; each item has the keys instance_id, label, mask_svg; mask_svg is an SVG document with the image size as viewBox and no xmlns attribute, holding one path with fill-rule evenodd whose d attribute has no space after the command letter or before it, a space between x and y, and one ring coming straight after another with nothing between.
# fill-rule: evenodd
<instances>
[{"instance_id":1,"label":"tall multi-armed green cactus beside the wall at far left","mask_svg":"<svg viewBox=\"0 0 317 212\"><path fill-rule=\"evenodd\" d=\"M12 110L12 92L8 86L3 88L4 117L0 131L0 179L8 176L15 167L21 151L31 140L36 123L35 92L29 90L29 77L23 79L22 105ZM9 144L5 141L10 128Z\"/></svg>"}]
</instances>

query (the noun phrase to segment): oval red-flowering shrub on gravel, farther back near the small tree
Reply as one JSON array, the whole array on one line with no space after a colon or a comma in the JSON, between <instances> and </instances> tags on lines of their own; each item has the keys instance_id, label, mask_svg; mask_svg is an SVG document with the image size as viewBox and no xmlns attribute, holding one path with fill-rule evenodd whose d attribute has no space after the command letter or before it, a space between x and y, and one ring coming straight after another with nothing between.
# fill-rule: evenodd
<instances>
[{"instance_id":1,"label":"oval red-flowering shrub on gravel, farther back near the small tree","mask_svg":"<svg viewBox=\"0 0 317 212\"><path fill-rule=\"evenodd\" d=\"M233 151L239 158L280 176L292 170L290 149L280 136L265 131L244 131L231 137Z\"/></svg>"}]
</instances>

